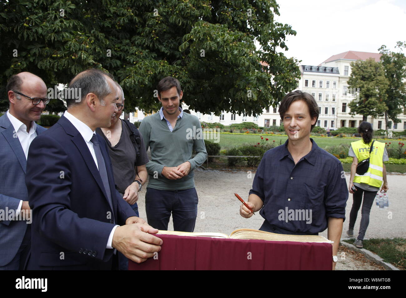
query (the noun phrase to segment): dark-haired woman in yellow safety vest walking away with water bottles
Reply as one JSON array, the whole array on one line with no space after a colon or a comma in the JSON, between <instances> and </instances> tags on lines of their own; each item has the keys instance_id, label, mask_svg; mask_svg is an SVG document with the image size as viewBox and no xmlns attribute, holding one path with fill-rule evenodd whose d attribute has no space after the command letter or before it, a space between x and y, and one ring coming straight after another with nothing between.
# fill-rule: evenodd
<instances>
[{"instance_id":1,"label":"dark-haired woman in yellow safety vest walking away with water bottles","mask_svg":"<svg viewBox=\"0 0 406 298\"><path fill-rule=\"evenodd\" d=\"M371 154L369 150L372 144L372 134L374 130L369 122L362 122L358 127L358 133L361 134L362 139L351 143L348 155L353 157L351 165L351 177L349 191L352 193L352 208L350 212L350 224L348 227L347 235L354 236L354 225L357 217L359 207L362 202L362 195L364 193L364 201L361 209L361 224L359 227L358 237L354 245L358 248L363 248L363 240L365 232L369 224L369 212L371 211L372 204L376 193L379 191L382 182L381 191L388 191L388 181L386 178L386 167L384 161L389 161L388 153L385 149L385 144L375 140ZM356 166L359 161L363 161L369 157L369 168L363 175L356 174ZM353 187L355 191L353 190Z\"/></svg>"}]
</instances>

